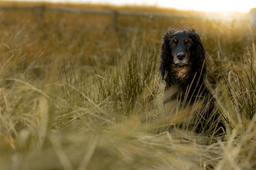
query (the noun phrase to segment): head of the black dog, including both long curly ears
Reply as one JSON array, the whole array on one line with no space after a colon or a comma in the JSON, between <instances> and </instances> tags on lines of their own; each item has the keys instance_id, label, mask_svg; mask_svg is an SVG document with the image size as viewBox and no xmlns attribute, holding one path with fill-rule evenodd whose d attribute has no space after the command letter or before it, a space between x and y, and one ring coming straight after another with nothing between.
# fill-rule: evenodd
<instances>
[{"instance_id":1,"label":"head of the black dog, including both long curly ears","mask_svg":"<svg viewBox=\"0 0 256 170\"><path fill-rule=\"evenodd\" d=\"M198 74L205 74L205 50L198 34L193 30L172 30L164 34L161 46L161 75L164 80L172 67L193 67ZM202 72L201 72L202 71Z\"/></svg>"}]
</instances>

